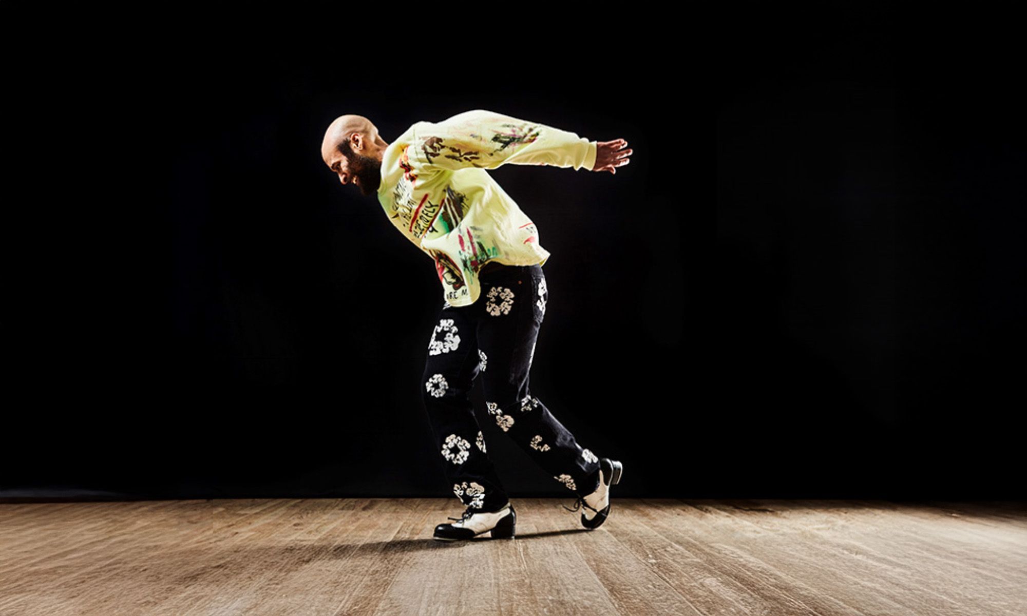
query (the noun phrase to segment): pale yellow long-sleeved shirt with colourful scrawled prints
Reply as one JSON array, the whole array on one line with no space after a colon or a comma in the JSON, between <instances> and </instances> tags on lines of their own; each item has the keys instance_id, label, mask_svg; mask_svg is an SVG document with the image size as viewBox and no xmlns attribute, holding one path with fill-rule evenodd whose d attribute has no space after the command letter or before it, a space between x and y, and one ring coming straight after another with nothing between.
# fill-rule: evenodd
<instances>
[{"instance_id":1,"label":"pale yellow long-sleeved shirt with colourful scrawled prints","mask_svg":"<svg viewBox=\"0 0 1027 616\"><path fill-rule=\"evenodd\" d=\"M507 162L558 167L596 163L597 142L485 110L417 122L382 154L378 200L393 225L435 262L452 306L481 295L486 262L544 264L538 229L486 169Z\"/></svg>"}]
</instances>

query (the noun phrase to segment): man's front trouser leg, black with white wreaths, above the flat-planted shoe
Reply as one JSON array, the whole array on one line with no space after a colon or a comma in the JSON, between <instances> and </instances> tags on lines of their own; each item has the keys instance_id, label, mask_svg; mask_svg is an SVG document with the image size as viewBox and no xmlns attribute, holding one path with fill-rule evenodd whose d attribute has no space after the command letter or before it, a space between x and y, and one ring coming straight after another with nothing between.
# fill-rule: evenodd
<instances>
[{"instance_id":1,"label":"man's front trouser leg, black with white wreaths, above the flat-planted shoe","mask_svg":"<svg viewBox=\"0 0 1027 616\"><path fill-rule=\"evenodd\" d=\"M470 307L444 304L428 343L421 393L439 459L464 506L493 511L507 502L467 394L480 372Z\"/></svg>"}]
</instances>

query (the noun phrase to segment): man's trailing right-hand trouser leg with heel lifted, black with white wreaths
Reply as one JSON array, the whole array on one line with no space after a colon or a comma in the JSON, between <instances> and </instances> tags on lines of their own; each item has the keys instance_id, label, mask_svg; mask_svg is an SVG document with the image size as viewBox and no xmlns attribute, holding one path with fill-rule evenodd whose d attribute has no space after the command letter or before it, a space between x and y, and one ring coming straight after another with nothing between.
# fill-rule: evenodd
<instances>
[{"instance_id":1,"label":"man's trailing right-hand trouser leg with heel lifted, black with white wreaths","mask_svg":"<svg viewBox=\"0 0 1027 616\"><path fill-rule=\"evenodd\" d=\"M599 486L599 458L529 391L528 373L549 299L540 266L506 267L482 276L476 312L489 414L553 478L586 495Z\"/></svg>"}]
</instances>

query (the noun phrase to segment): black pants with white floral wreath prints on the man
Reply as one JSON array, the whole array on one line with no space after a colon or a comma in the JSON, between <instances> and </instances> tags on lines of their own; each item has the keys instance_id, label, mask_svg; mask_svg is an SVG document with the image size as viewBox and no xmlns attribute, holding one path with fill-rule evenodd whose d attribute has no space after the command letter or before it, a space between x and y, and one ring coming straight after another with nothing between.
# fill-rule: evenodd
<instances>
[{"instance_id":1,"label":"black pants with white floral wreath prints on the man","mask_svg":"<svg viewBox=\"0 0 1027 616\"><path fill-rule=\"evenodd\" d=\"M568 490L599 487L599 459L528 389L535 340L549 299L542 267L490 265L469 306L444 303L428 344L424 406L446 477L465 506L484 511L507 502L487 455L467 394L482 376L489 416Z\"/></svg>"}]
</instances>

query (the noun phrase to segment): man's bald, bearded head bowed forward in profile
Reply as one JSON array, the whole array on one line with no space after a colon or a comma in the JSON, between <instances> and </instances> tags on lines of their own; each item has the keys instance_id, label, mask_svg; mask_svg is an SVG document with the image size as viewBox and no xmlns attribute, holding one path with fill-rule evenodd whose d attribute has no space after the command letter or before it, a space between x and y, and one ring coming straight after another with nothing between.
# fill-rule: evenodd
<instances>
[{"instance_id":1,"label":"man's bald, bearded head bowed forward in profile","mask_svg":"<svg viewBox=\"0 0 1027 616\"><path fill-rule=\"evenodd\" d=\"M364 194L372 194L381 182L382 153L388 144L378 134L378 127L364 116L339 116L325 131L321 159L339 176L343 185L353 183Z\"/></svg>"}]
</instances>

